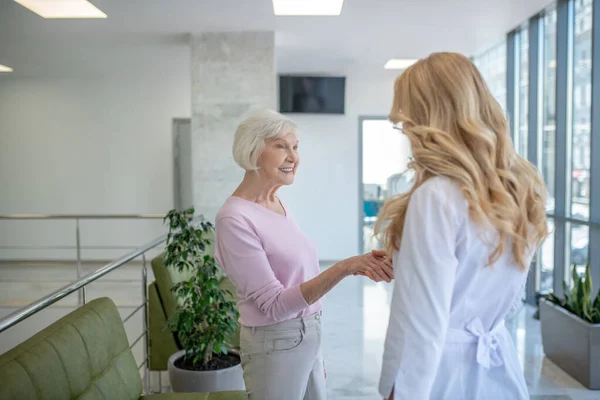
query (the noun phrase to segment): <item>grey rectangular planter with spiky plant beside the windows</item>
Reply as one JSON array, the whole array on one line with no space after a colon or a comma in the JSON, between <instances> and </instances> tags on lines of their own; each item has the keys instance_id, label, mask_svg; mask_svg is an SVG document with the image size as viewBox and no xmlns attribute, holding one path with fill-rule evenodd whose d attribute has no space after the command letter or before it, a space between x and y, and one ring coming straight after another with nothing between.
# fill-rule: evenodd
<instances>
[{"instance_id":1,"label":"grey rectangular planter with spiky plant beside the windows","mask_svg":"<svg viewBox=\"0 0 600 400\"><path fill-rule=\"evenodd\" d=\"M572 271L573 288L563 281L564 298L550 293L540 300L544 352L589 389L600 389L600 293L592 301L589 264Z\"/></svg>"}]
</instances>

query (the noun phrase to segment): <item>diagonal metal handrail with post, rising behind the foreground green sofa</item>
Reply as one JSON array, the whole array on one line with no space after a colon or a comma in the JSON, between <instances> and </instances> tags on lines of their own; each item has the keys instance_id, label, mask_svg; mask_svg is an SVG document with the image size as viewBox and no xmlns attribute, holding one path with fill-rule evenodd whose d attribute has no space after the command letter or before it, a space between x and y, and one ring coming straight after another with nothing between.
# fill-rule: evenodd
<instances>
[{"instance_id":1,"label":"diagonal metal handrail with post, rising behind the foreground green sofa","mask_svg":"<svg viewBox=\"0 0 600 400\"><path fill-rule=\"evenodd\" d=\"M49 295L34 301L26 307L23 307L7 317L0 320L0 333L6 331L7 329L17 325L19 322L31 317L37 312L51 306L56 303L60 299L65 298L66 296L77 292L78 290L85 288L86 285L94 282L95 280L103 277L104 275L116 270L117 268L127 264L129 261L134 260L137 257L142 257L142 304L136 307L133 312L131 312L127 317L123 319L123 323L127 322L131 317L133 317L140 310L144 310L144 317L142 322L142 333L138 336L133 343L129 346L130 349L144 338L144 352L143 352L143 361L138 366L138 370L145 366L144 370L144 392L148 393L150 388L150 374L149 374L149 366L148 366L148 354L149 354L149 342L148 342L148 269L147 269L147 260L146 253L149 250L156 248L167 240L167 235L163 235L152 242L146 244L145 246L134 250L125 256L119 258L116 261L113 261L104 267L91 272L90 274L82 277L76 282L70 283L55 292L50 293ZM84 297L84 303L85 303Z\"/></svg>"}]
</instances>

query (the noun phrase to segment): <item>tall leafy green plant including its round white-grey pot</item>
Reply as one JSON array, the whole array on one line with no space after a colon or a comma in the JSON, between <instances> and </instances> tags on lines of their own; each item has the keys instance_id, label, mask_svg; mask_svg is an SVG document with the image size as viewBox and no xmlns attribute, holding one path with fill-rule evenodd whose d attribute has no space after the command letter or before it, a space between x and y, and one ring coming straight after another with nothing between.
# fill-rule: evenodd
<instances>
[{"instance_id":1,"label":"tall leafy green plant including its round white-grey pot","mask_svg":"<svg viewBox=\"0 0 600 400\"><path fill-rule=\"evenodd\" d=\"M219 288L219 267L205 250L210 245L210 222L194 224L194 209L170 211L165 267L186 279L171 289L177 312L168 322L183 350L169 358L174 392L244 390L239 354L229 351L229 337L236 330L238 313L233 301ZM189 277L189 278L187 278Z\"/></svg>"}]
</instances>

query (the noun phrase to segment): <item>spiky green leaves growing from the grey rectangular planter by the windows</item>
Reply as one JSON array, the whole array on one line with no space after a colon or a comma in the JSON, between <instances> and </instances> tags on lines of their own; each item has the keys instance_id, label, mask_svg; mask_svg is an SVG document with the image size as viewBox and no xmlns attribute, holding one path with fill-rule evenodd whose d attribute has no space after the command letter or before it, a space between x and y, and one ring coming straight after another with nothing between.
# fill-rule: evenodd
<instances>
[{"instance_id":1,"label":"spiky green leaves growing from the grey rectangular planter by the windows","mask_svg":"<svg viewBox=\"0 0 600 400\"><path fill-rule=\"evenodd\" d=\"M573 288L569 290L567 282L563 281L564 298L559 299L553 293L548 295L548 300L577 315L591 324L600 324L600 292L592 301L592 274L590 264L585 268L585 274L577 273L577 266L573 265L571 271Z\"/></svg>"}]
</instances>

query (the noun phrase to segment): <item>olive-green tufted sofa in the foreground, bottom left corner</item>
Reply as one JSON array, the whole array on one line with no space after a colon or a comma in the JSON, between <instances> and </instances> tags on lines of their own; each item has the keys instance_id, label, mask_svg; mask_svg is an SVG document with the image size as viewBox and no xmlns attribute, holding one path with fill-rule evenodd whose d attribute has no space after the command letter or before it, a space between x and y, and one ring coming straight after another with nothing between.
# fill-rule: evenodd
<instances>
[{"instance_id":1,"label":"olive-green tufted sofa in the foreground, bottom left corner","mask_svg":"<svg viewBox=\"0 0 600 400\"><path fill-rule=\"evenodd\" d=\"M243 400L244 392L142 396L125 327L109 298L93 300L0 355L2 400Z\"/></svg>"}]
</instances>

